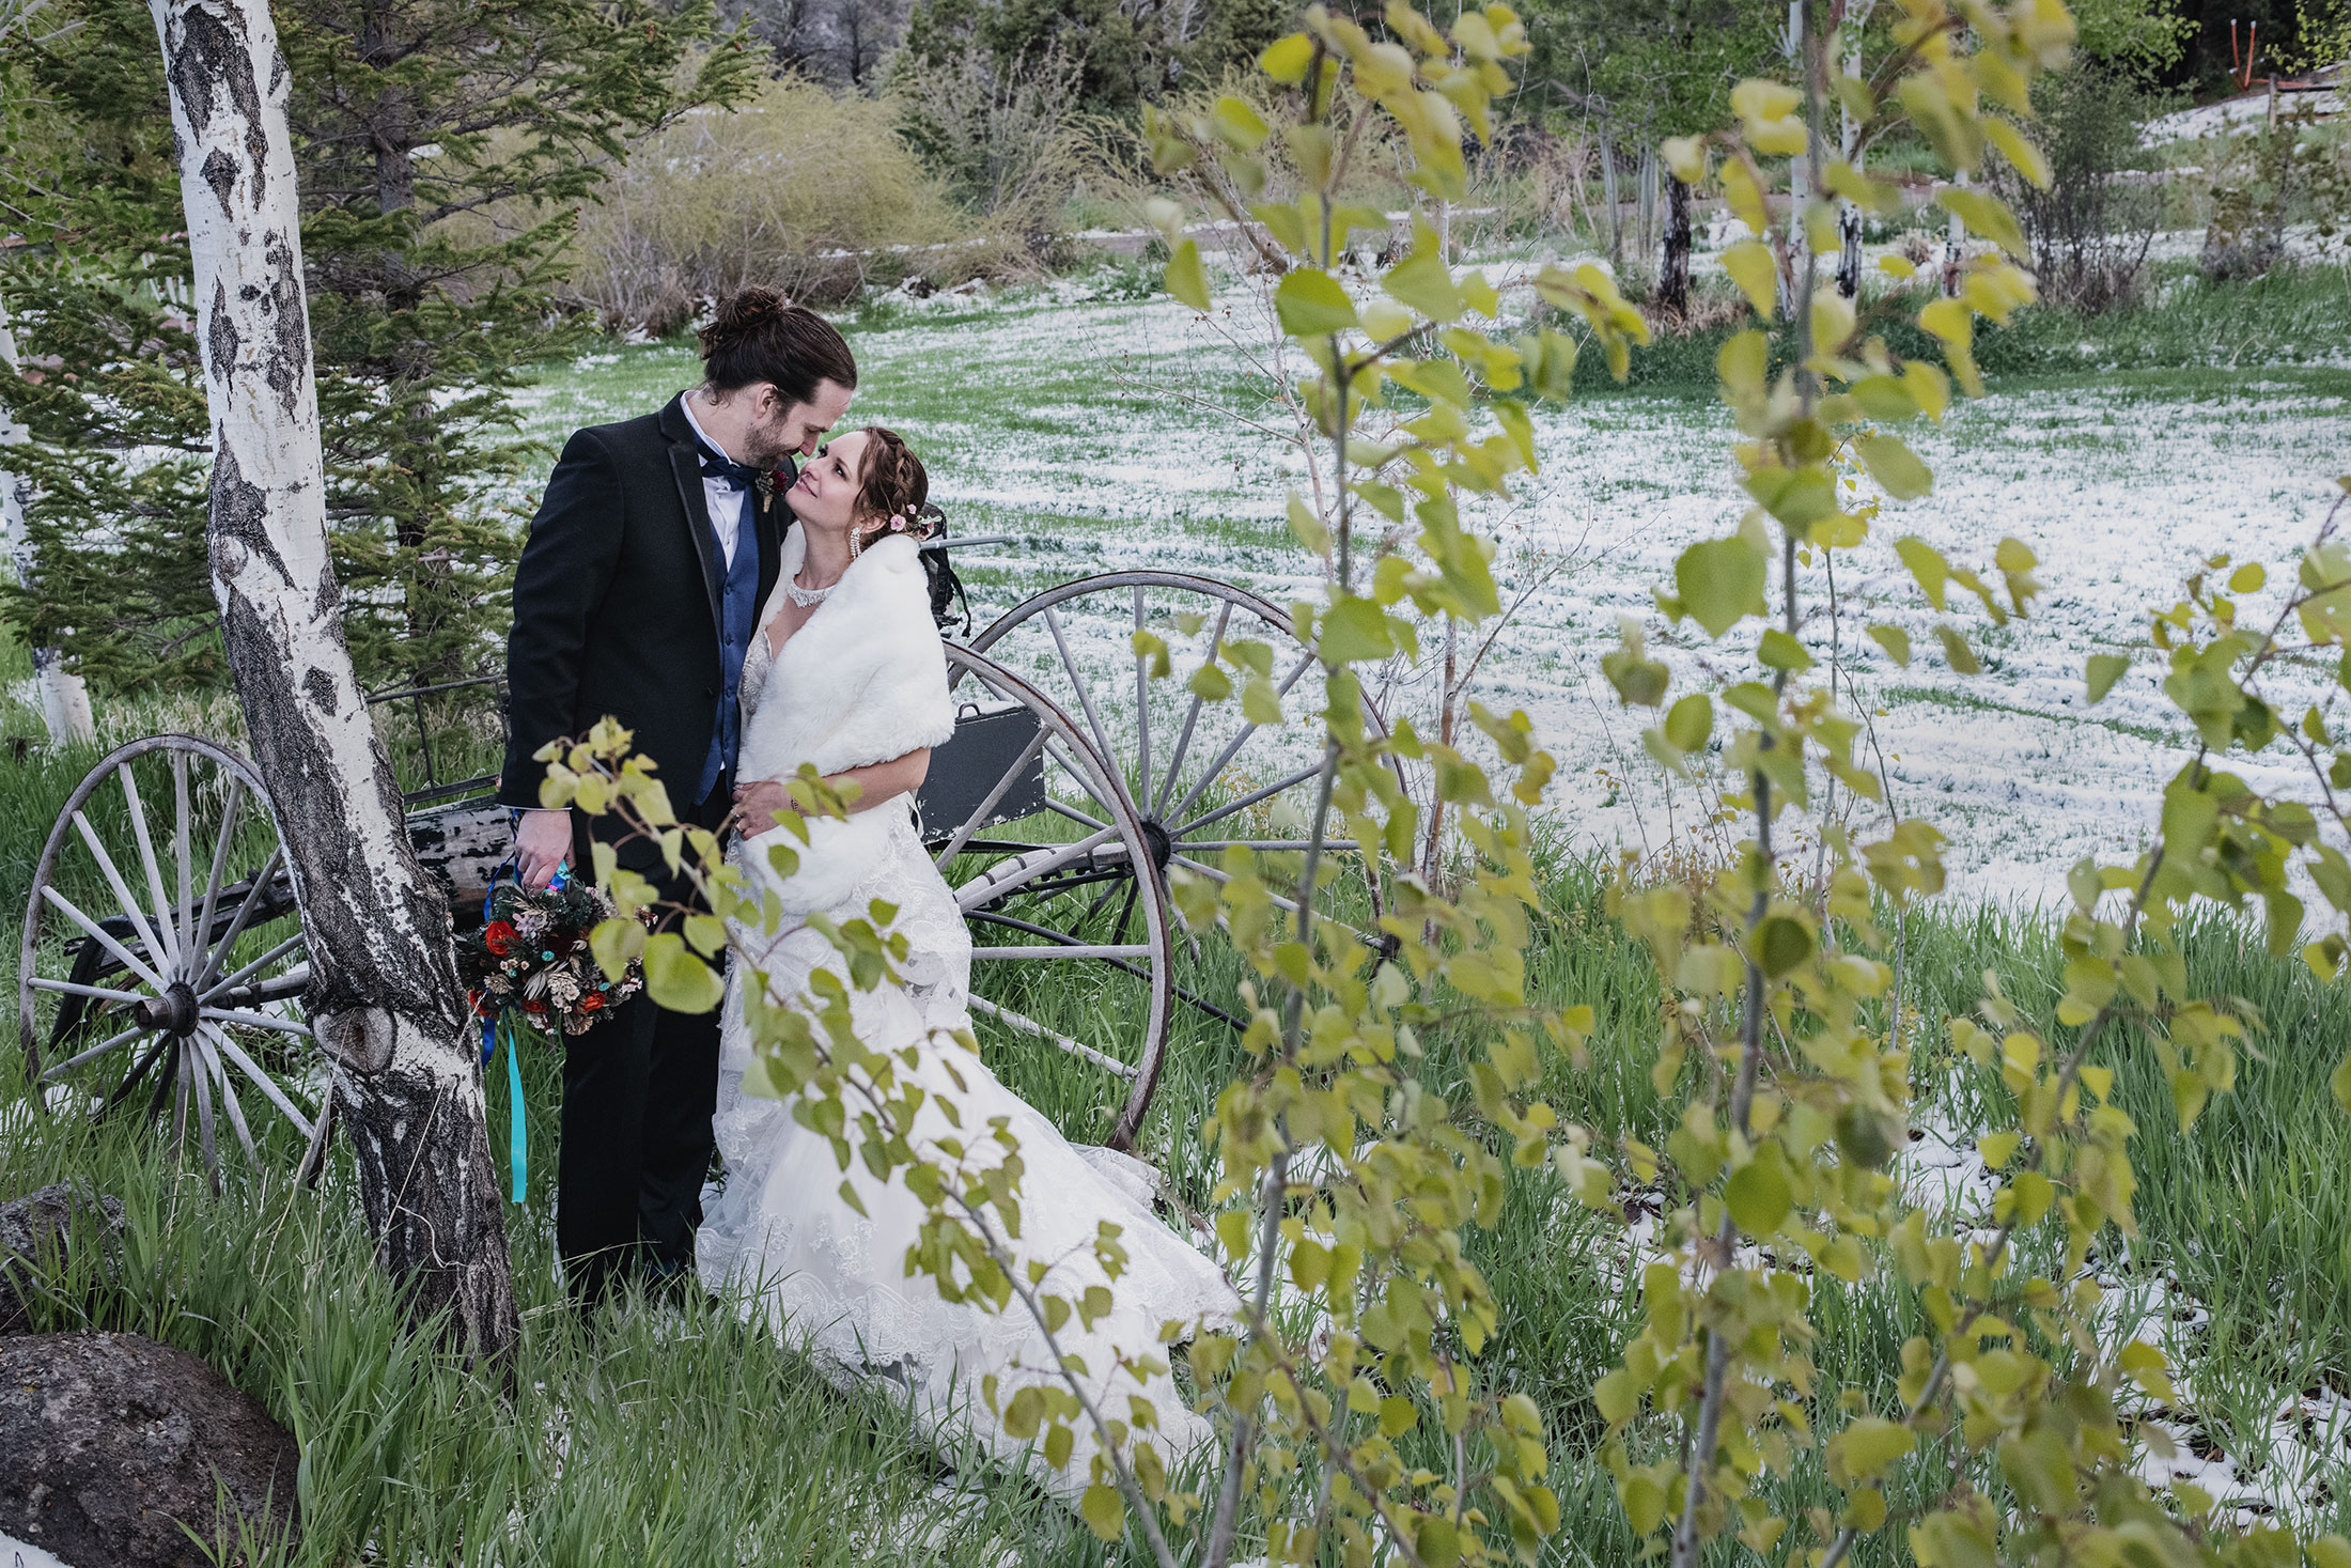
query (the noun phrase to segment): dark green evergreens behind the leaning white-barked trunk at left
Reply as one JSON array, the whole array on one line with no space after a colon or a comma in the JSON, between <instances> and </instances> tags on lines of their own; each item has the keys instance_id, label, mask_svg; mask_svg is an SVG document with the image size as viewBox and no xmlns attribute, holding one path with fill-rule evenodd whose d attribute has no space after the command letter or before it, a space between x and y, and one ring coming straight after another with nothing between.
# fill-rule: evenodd
<instances>
[{"instance_id":1,"label":"dark green evergreens behind the leaning white-barked trunk at left","mask_svg":"<svg viewBox=\"0 0 2351 1568\"><path fill-rule=\"evenodd\" d=\"M40 449L42 592L12 614L113 684L216 677L155 26L136 0L61 16L19 59L47 136L7 169L42 252L0 277L33 371L0 397ZM494 498L531 458L510 393L590 329L557 296L576 207L632 136L738 99L755 59L689 61L708 0L294 0L277 24L350 649L376 689L465 675L520 550Z\"/></svg>"}]
</instances>

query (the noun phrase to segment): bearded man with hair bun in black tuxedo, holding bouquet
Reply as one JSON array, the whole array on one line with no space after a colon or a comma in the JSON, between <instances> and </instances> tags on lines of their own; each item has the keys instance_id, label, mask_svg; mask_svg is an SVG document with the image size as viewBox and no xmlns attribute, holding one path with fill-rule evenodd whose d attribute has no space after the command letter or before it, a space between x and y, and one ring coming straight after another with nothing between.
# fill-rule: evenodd
<instances>
[{"instance_id":1,"label":"bearded man with hair bun in black tuxedo, holding bouquet","mask_svg":"<svg viewBox=\"0 0 2351 1568\"><path fill-rule=\"evenodd\" d=\"M548 741L611 715L682 823L717 827L734 790L743 651L776 583L785 522L759 482L849 411L858 367L842 334L771 289L726 299L701 334L703 383L658 414L576 430L564 444L515 569L505 644L508 745L498 799L517 806L524 886L560 865L592 875L590 818L541 811L534 762ZM592 830L616 839L614 818ZM621 865L663 900L696 903L654 844ZM581 1302L630 1274L691 1276L719 1074L717 1013L670 1013L637 994L564 1039L555 1246Z\"/></svg>"}]
</instances>

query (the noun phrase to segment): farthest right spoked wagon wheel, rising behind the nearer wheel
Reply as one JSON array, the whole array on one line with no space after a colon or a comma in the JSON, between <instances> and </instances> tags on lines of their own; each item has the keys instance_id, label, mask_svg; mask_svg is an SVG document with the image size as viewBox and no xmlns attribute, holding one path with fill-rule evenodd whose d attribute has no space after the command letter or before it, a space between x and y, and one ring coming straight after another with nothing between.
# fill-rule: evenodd
<instances>
[{"instance_id":1,"label":"farthest right spoked wagon wheel, rising behind the nearer wheel","mask_svg":"<svg viewBox=\"0 0 2351 1568\"><path fill-rule=\"evenodd\" d=\"M1168 646L1171 675L1150 679L1133 651L1147 630ZM1110 571L1049 588L1023 599L971 639L1002 665L1025 675L1070 712L1086 717L1096 750L1112 759L1143 832L1159 846L1157 865L1180 865L1225 882L1223 858L1241 846L1260 856L1267 884L1279 889L1302 875L1314 832L1314 780L1321 769L1319 731L1251 724L1237 703L1208 705L1192 693L1192 675L1239 642L1272 651L1272 679L1291 715L1321 705L1321 665L1298 642L1286 611L1246 588L1185 571ZM1230 670L1230 665L1227 665ZM1364 722L1385 736L1387 722L1364 698ZM1389 762L1396 769L1394 762ZM1401 769L1396 783L1404 783ZM1324 842L1324 853L1352 856L1349 842ZM1331 860L1324 860L1326 872ZM1375 933L1382 889L1375 867L1347 863L1333 882L1317 877L1317 914ZM1295 914L1295 898L1274 896ZM1199 997L1187 978L1199 971L1194 943L1178 945L1178 990L1197 1006L1239 1025L1223 1006Z\"/></svg>"}]
</instances>

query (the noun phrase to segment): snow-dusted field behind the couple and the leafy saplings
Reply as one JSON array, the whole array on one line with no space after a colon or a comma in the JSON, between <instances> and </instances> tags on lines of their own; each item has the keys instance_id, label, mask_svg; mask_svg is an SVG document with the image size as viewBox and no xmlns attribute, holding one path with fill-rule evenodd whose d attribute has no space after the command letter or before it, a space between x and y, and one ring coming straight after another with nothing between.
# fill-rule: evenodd
<instances>
[{"instance_id":1,"label":"snow-dusted field behind the couple and the leafy saplings","mask_svg":"<svg viewBox=\"0 0 2351 1568\"><path fill-rule=\"evenodd\" d=\"M1248 284L1227 284L1211 320L1063 284L1041 301L851 336L865 367L856 416L915 442L959 531L1020 538L959 557L966 576L999 576L973 595L983 621L1037 588L1138 564L1180 564L1277 602L1312 590L1312 562L1281 524L1302 470L1279 440L1284 411L1262 397L1270 334ZM560 444L574 423L656 407L691 374L675 348L632 348L541 388L534 425ZM1841 555L1836 623L1824 576L1808 574L1806 639L1822 661L1834 642L1871 710L1895 804L1951 835L1961 893L2055 903L2076 858L2139 849L2189 733L2161 696L2149 609L2177 602L2182 578L2217 552L2290 583L2335 475L2351 468L2344 397L2323 383L2248 371L2196 388L2083 381L1958 404L1914 433L1935 494L1888 505L1874 538ZM1641 717L1615 705L1599 658L1617 618L1634 616L1676 691L1707 670L1744 675L1695 625L1669 628L1650 597L1683 545L1737 522L1733 440L1707 400L1585 397L1538 416L1540 477L1479 517L1502 541L1505 599L1523 595L1481 698L1535 719L1561 759L1559 820L1587 849L1657 851L1712 804L1657 776ZM1937 616L1893 552L1904 534L1987 574L2012 534L2041 557L2045 595L2005 630L1958 597ZM2248 618L2266 623L2276 602L2276 590L2250 595ZM1867 642L1871 621L1911 632L1907 670ZM1958 677L1928 651L1937 621L1970 635L1984 675ZM2135 663L2092 710L2081 672L2095 651ZM2278 689L2295 698L2320 679L2288 670ZM2302 783L2283 766L2245 771Z\"/></svg>"}]
</instances>

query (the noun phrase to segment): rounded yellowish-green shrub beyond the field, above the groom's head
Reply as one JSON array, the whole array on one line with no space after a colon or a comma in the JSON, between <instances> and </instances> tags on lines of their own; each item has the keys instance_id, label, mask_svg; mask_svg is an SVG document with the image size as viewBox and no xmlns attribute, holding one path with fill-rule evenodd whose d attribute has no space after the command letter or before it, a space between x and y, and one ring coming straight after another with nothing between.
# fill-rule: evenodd
<instances>
[{"instance_id":1,"label":"rounded yellowish-green shrub beyond the field, above the groom's head","mask_svg":"<svg viewBox=\"0 0 2351 1568\"><path fill-rule=\"evenodd\" d=\"M665 336L696 301L750 282L830 303L915 268L966 226L896 120L886 99L797 78L736 113L686 115L581 214L583 296L607 324Z\"/></svg>"}]
</instances>

